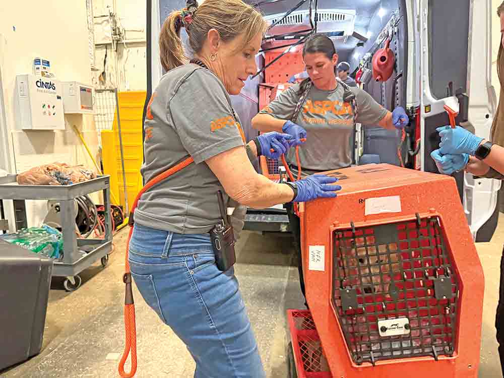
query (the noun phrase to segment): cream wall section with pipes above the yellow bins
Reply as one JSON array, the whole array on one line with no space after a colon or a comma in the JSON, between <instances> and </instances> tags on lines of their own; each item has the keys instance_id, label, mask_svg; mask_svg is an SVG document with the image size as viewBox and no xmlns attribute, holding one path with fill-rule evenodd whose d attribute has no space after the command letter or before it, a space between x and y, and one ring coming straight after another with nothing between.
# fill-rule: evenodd
<instances>
[{"instance_id":1,"label":"cream wall section with pipes above the yellow bins","mask_svg":"<svg viewBox=\"0 0 504 378\"><path fill-rule=\"evenodd\" d=\"M123 31L123 41L111 43L112 18ZM118 88L119 91L145 91L146 72L146 6L138 0L93 0L95 20L95 66L92 74L97 88ZM107 17L101 17L107 16ZM104 66L105 51L107 60ZM105 68L106 81L99 80Z\"/></svg>"}]
</instances>

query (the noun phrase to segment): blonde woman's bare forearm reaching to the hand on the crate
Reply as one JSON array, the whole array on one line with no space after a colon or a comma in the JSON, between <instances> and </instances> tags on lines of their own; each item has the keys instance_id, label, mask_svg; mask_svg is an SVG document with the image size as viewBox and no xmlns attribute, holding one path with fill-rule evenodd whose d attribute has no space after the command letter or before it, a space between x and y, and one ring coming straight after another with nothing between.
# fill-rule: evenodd
<instances>
[{"instance_id":1,"label":"blonde woman's bare forearm reaching to the hand on the crate","mask_svg":"<svg viewBox=\"0 0 504 378\"><path fill-rule=\"evenodd\" d=\"M293 200L294 191L287 184L277 184L262 174L257 174L252 182L243 182L233 193L233 200L255 209L269 208Z\"/></svg>"}]
</instances>

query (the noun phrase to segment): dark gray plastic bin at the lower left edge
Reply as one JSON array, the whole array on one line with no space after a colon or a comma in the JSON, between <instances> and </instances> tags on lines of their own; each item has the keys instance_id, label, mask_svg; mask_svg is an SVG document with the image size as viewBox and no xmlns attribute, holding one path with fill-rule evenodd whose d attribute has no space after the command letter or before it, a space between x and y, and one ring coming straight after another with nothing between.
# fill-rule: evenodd
<instances>
[{"instance_id":1,"label":"dark gray plastic bin at the lower left edge","mask_svg":"<svg viewBox=\"0 0 504 378\"><path fill-rule=\"evenodd\" d=\"M52 265L0 240L0 370L40 353Z\"/></svg>"}]
</instances>

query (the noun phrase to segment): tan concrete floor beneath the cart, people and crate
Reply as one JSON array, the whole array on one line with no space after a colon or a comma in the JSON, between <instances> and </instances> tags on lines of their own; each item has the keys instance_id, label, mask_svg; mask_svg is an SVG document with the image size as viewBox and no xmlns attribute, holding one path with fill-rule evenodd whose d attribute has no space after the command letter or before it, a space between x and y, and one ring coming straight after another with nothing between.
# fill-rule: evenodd
<instances>
[{"instance_id":1,"label":"tan concrete floor beneath the cart, people and crate","mask_svg":"<svg viewBox=\"0 0 504 378\"><path fill-rule=\"evenodd\" d=\"M42 352L27 362L0 372L1 378L116 378L123 350L122 303L124 244L127 230L115 237L109 266L96 264L83 272L81 288L72 293L54 279L49 295ZM501 376L494 317L499 264L504 244L504 215L491 242L478 243L485 273L480 378ZM243 232L237 245L236 275L256 332L268 378L286 378L287 308L303 308L291 238ZM139 368L136 377L188 378L194 362L184 345L137 299Z\"/></svg>"}]
</instances>

